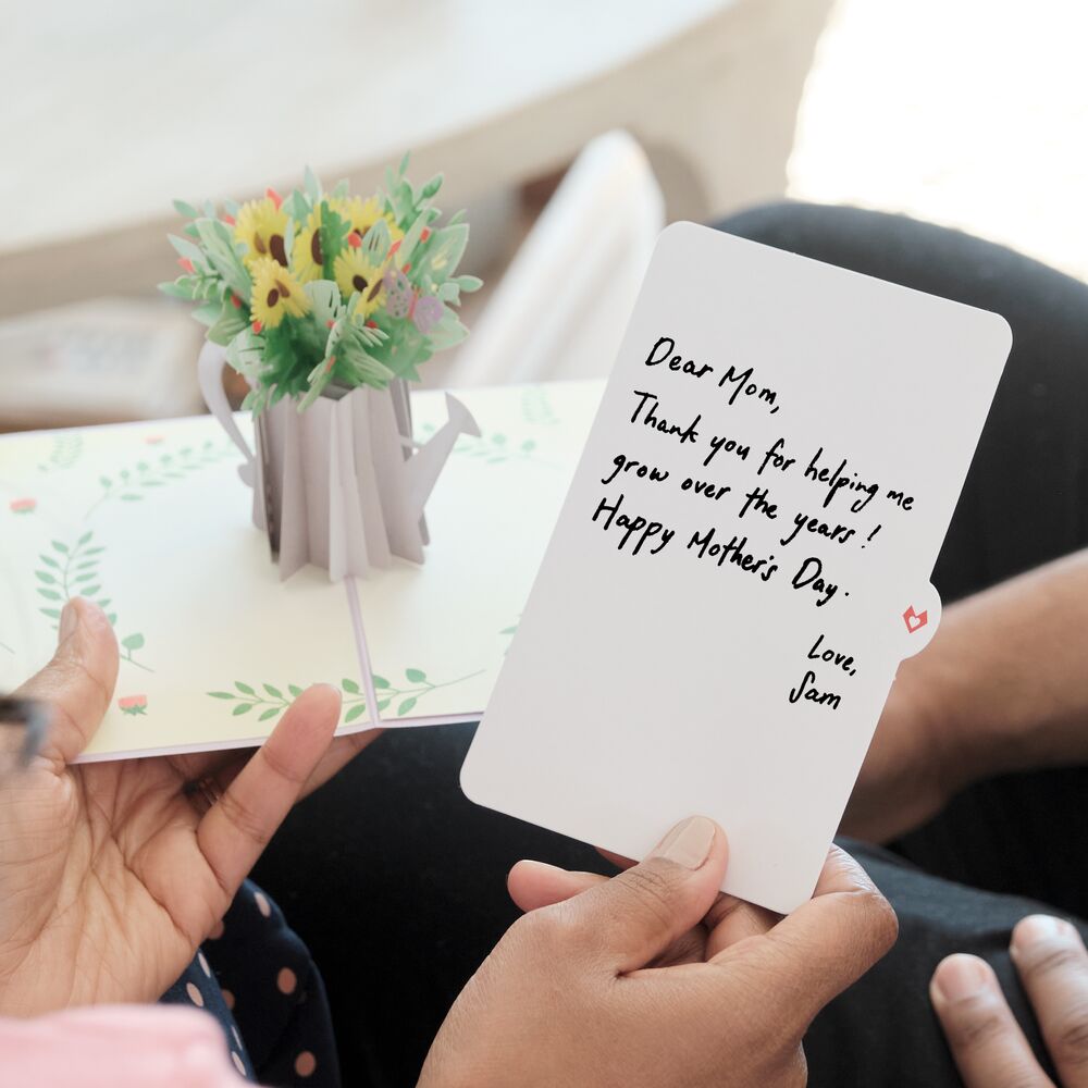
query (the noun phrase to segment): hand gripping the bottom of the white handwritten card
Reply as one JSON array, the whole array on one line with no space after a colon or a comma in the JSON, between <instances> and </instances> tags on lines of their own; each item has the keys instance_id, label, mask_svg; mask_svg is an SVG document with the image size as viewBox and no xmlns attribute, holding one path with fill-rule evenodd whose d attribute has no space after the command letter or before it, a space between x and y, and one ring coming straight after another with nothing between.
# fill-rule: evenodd
<instances>
[{"instance_id":1,"label":"hand gripping the bottom of the white handwritten card","mask_svg":"<svg viewBox=\"0 0 1088 1088\"><path fill-rule=\"evenodd\" d=\"M832 850L786 918L718 894L725 833L693 817L611 879L521 863L530 913L469 980L421 1088L795 1088L816 1013L895 938L894 914Z\"/></svg>"}]
</instances>

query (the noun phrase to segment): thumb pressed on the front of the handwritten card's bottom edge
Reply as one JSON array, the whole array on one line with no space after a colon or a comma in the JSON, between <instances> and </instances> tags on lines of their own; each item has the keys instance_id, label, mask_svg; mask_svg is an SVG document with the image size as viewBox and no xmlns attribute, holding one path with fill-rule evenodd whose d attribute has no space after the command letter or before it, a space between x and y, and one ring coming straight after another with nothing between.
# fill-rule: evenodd
<instances>
[{"instance_id":1,"label":"thumb pressed on the front of the handwritten card's bottom edge","mask_svg":"<svg viewBox=\"0 0 1088 1088\"><path fill-rule=\"evenodd\" d=\"M560 904L567 922L618 973L636 970L698 924L726 873L726 833L705 816L682 820L645 861Z\"/></svg>"}]
</instances>

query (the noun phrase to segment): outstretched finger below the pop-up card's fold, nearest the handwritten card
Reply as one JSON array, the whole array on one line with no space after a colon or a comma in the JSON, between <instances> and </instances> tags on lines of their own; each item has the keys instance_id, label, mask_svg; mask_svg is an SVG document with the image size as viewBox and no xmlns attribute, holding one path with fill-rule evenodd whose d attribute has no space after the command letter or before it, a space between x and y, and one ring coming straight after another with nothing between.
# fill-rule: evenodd
<instances>
[{"instance_id":1,"label":"outstretched finger below the pop-up card's fold, nearest the handwritten card","mask_svg":"<svg viewBox=\"0 0 1088 1088\"><path fill-rule=\"evenodd\" d=\"M305 691L254 753L197 828L197 842L224 892L233 897L329 750L339 692Z\"/></svg>"}]
</instances>

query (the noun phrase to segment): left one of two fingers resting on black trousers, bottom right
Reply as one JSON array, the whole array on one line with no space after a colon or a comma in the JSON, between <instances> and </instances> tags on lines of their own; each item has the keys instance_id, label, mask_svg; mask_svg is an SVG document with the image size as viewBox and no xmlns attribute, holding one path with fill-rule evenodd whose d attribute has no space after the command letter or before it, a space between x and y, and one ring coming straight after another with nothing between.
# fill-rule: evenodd
<instances>
[{"instance_id":1,"label":"left one of two fingers resting on black trousers, bottom right","mask_svg":"<svg viewBox=\"0 0 1088 1088\"><path fill-rule=\"evenodd\" d=\"M966 1088L1054 1088L985 960L963 953L942 960L929 1000Z\"/></svg>"}]
</instances>

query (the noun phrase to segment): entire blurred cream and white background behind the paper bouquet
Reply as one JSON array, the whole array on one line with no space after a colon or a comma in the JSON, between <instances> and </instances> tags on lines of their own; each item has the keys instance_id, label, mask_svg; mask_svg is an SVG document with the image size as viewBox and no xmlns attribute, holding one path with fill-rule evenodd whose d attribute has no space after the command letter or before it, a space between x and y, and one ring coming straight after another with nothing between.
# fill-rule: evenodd
<instances>
[{"instance_id":1,"label":"entire blurred cream and white background behind the paper bouquet","mask_svg":"<svg viewBox=\"0 0 1088 1088\"><path fill-rule=\"evenodd\" d=\"M472 335L426 384L607 373L660 227L784 197L1088 276L1068 0L0 2L0 430L200 411L172 198L466 207ZM235 393L240 395L239 390Z\"/></svg>"}]
</instances>

